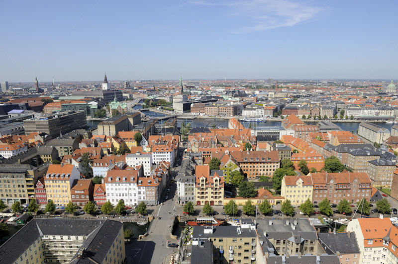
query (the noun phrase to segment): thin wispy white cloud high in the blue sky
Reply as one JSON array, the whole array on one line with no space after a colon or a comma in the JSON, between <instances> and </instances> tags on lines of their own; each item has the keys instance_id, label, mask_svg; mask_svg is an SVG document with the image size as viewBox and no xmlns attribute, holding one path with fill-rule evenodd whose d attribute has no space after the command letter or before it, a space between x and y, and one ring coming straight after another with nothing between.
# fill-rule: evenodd
<instances>
[{"instance_id":1,"label":"thin wispy white cloud high in the blue sky","mask_svg":"<svg viewBox=\"0 0 398 264\"><path fill-rule=\"evenodd\" d=\"M195 5L211 2L193 0ZM232 17L245 17L247 26L238 27L234 33L263 31L277 27L290 27L310 19L322 8L289 0L228 0L214 1L213 6L225 6Z\"/></svg>"}]
</instances>

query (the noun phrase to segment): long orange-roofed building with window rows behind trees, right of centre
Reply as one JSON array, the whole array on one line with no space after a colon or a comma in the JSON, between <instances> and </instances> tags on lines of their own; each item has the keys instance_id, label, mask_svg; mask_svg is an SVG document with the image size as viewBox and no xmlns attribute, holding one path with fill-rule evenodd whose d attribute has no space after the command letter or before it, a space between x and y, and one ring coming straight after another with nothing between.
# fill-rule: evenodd
<instances>
[{"instance_id":1,"label":"long orange-roofed building with window rows behind trees, right of centre","mask_svg":"<svg viewBox=\"0 0 398 264\"><path fill-rule=\"evenodd\" d=\"M280 164L279 153L276 150L235 151L230 154L248 179L258 179L260 176L272 177Z\"/></svg>"}]
</instances>

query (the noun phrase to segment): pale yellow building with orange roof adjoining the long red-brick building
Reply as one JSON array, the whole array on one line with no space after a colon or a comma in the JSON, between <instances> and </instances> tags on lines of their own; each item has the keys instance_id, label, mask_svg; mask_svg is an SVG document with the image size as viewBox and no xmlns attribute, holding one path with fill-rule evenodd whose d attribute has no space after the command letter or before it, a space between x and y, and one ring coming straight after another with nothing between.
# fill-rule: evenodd
<instances>
[{"instance_id":1,"label":"pale yellow building with orange roof adjoining the long red-brick building","mask_svg":"<svg viewBox=\"0 0 398 264\"><path fill-rule=\"evenodd\" d=\"M292 204L300 205L306 199L312 202L313 184L312 177L285 176L282 179L281 196L289 199Z\"/></svg>"}]
</instances>

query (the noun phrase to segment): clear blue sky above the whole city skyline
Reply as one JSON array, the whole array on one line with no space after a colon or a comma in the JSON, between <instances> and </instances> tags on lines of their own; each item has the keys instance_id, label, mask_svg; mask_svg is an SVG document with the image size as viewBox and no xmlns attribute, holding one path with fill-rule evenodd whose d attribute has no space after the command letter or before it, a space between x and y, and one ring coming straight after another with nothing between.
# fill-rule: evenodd
<instances>
[{"instance_id":1,"label":"clear blue sky above the whole city skyline","mask_svg":"<svg viewBox=\"0 0 398 264\"><path fill-rule=\"evenodd\" d=\"M0 80L398 79L396 0L0 1Z\"/></svg>"}]
</instances>

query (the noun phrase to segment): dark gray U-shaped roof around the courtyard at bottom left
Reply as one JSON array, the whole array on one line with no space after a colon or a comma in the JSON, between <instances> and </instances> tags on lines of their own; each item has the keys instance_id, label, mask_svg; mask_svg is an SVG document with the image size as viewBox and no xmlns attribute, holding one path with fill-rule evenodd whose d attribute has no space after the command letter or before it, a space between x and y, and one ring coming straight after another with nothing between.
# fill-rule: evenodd
<instances>
[{"instance_id":1,"label":"dark gray U-shaped roof around the courtyard at bottom left","mask_svg":"<svg viewBox=\"0 0 398 264\"><path fill-rule=\"evenodd\" d=\"M0 263L13 264L41 235L87 236L82 246L85 256L72 262L92 264L90 257L102 263L122 227L122 223L106 219L34 219L0 246Z\"/></svg>"}]
</instances>

